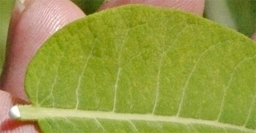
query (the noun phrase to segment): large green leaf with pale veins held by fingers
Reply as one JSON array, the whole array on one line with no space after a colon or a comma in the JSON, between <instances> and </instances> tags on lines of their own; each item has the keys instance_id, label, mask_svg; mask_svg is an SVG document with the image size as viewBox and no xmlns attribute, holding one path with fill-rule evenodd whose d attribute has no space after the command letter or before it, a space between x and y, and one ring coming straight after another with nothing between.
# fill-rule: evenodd
<instances>
[{"instance_id":1,"label":"large green leaf with pale veins held by fingers","mask_svg":"<svg viewBox=\"0 0 256 133\"><path fill-rule=\"evenodd\" d=\"M54 34L29 64L42 132L255 132L256 45L204 18L126 5Z\"/></svg>"}]
</instances>

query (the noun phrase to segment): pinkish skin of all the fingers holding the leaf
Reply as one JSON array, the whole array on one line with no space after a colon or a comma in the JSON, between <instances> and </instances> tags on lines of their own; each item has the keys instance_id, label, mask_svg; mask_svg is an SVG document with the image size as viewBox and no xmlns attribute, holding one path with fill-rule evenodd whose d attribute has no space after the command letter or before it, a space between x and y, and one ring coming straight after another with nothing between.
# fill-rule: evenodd
<instances>
[{"instance_id":1,"label":"pinkish skin of all the fingers holding the leaf","mask_svg":"<svg viewBox=\"0 0 256 133\"><path fill-rule=\"evenodd\" d=\"M110 0L99 10L124 4L147 4L176 8L202 16L204 0ZM69 0L18 0L12 13L6 62L0 82L0 131L40 132L35 122L16 122L8 116L15 104L29 103L24 92L27 65L38 48L64 25L86 16ZM256 34L252 35L256 41Z\"/></svg>"}]
</instances>

